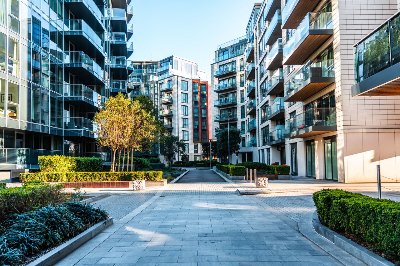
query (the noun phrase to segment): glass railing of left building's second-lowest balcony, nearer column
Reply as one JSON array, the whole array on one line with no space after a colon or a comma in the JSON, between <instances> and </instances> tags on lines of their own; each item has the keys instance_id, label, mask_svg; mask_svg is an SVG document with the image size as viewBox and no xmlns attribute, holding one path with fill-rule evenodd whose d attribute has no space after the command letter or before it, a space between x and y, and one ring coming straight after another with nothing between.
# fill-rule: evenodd
<instances>
[{"instance_id":1,"label":"glass railing of left building's second-lowest balcony, nearer column","mask_svg":"<svg viewBox=\"0 0 400 266\"><path fill-rule=\"evenodd\" d=\"M84 97L90 103L94 103L96 106L101 106L105 98L101 94L96 91L86 87L82 84L68 84L64 85L64 99L67 98L69 100L80 100L81 97Z\"/></svg>"}]
</instances>

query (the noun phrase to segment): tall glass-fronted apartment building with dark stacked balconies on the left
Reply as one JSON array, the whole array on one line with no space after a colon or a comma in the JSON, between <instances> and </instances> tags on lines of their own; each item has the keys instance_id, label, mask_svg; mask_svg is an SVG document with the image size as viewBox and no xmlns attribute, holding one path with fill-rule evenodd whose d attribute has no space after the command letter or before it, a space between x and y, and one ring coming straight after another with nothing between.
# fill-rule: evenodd
<instances>
[{"instance_id":1,"label":"tall glass-fronted apartment building with dark stacked balconies on the left","mask_svg":"<svg viewBox=\"0 0 400 266\"><path fill-rule=\"evenodd\" d=\"M112 0L0 3L0 169L38 155L96 156L92 118L126 87L132 6Z\"/></svg>"}]
</instances>

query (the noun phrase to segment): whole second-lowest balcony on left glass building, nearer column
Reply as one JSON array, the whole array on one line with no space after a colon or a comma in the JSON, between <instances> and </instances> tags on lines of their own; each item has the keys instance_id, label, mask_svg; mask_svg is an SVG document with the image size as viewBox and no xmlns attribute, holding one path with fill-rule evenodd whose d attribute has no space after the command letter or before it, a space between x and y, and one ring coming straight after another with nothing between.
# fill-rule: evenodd
<instances>
[{"instance_id":1,"label":"whole second-lowest balcony on left glass building, nearer column","mask_svg":"<svg viewBox=\"0 0 400 266\"><path fill-rule=\"evenodd\" d=\"M102 107L105 98L85 85L68 84L64 85L64 101L73 103L75 107L95 112Z\"/></svg>"}]
</instances>

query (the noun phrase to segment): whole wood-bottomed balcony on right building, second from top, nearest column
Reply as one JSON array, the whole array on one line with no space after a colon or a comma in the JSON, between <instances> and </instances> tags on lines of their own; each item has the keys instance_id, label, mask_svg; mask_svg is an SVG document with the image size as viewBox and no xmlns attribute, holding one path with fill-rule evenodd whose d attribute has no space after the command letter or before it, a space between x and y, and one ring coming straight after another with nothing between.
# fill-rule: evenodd
<instances>
[{"instance_id":1,"label":"whole wood-bottomed balcony on right building, second from top, nearest column","mask_svg":"<svg viewBox=\"0 0 400 266\"><path fill-rule=\"evenodd\" d=\"M308 13L283 46L283 64L304 64L332 35L332 12Z\"/></svg>"}]
</instances>

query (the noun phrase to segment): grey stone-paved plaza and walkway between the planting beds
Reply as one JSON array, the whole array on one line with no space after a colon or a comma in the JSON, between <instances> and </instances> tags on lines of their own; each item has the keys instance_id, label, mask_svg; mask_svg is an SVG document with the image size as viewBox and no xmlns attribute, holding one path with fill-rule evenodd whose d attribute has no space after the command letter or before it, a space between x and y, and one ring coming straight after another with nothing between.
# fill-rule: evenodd
<instances>
[{"instance_id":1,"label":"grey stone-paved plaza and walkway between the planting beds","mask_svg":"<svg viewBox=\"0 0 400 266\"><path fill-rule=\"evenodd\" d=\"M311 195L322 187L372 196L376 187L299 178L271 182L268 194L244 196L238 189L254 184L211 182L216 176L210 170L189 173L182 179L188 183L142 192L96 191L112 194L95 205L114 224L57 265L342 265L304 237L297 223L315 209ZM192 183L201 176L207 182ZM398 185L385 186L390 189L383 195L398 198Z\"/></svg>"}]
</instances>

